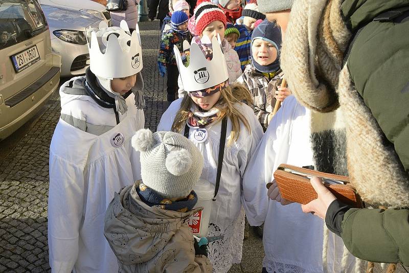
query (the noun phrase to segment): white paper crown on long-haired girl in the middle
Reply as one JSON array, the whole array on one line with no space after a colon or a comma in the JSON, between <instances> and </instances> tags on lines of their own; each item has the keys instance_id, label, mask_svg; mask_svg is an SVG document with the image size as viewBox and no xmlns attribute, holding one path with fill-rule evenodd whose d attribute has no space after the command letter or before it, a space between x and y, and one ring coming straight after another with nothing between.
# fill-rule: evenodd
<instances>
[{"instance_id":1,"label":"white paper crown on long-haired girl in the middle","mask_svg":"<svg viewBox=\"0 0 409 273\"><path fill-rule=\"evenodd\" d=\"M205 35L203 37L207 38ZM210 43L209 38L207 40ZM198 44L192 42L189 45L189 42L185 40L183 46L184 51L190 46L188 67L183 64L177 47L173 47L173 51L175 52L176 64L185 91L194 92L210 88L229 79L219 35L217 35L217 38L213 37L212 39L213 57L211 60L206 59Z\"/></svg>"}]
</instances>

